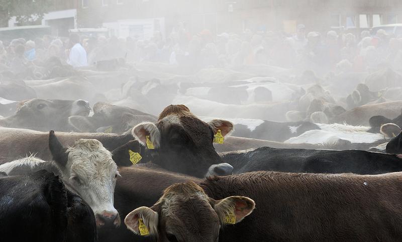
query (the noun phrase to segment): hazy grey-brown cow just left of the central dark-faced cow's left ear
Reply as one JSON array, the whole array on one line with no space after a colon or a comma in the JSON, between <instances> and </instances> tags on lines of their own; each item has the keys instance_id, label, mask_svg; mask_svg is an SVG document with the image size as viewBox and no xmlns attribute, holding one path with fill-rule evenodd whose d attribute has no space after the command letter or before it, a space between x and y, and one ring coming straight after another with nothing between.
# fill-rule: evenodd
<instances>
[{"instance_id":1,"label":"hazy grey-brown cow just left of the central dark-faced cow's left ear","mask_svg":"<svg viewBox=\"0 0 402 242\"><path fill-rule=\"evenodd\" d=\"M141 122L156 122L157 117L128 107L97 102L93 105L93 115L71 116L68 123L79 132L123 133Z\"/></svg>"}]
</instances>

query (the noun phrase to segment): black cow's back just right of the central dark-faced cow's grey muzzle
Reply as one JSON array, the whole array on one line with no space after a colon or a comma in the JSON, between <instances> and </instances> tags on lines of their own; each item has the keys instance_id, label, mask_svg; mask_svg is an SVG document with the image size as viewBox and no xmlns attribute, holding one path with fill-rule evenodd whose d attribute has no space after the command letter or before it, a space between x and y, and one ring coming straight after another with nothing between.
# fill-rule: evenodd
<instances>
[{"instance_id":1,"label":"black cow's back just right of the central dark-faced cow's grey muzzle","mask_svg":"<svg viewBox=\"0 0 402 242\"><path fill-rule=\"evenodd\" d=\"M284 149L261 147L221 153L233 173L278 171L294 173L382 174L402 171L395 154L365 150Z\"/></svg>"}]
</instances>

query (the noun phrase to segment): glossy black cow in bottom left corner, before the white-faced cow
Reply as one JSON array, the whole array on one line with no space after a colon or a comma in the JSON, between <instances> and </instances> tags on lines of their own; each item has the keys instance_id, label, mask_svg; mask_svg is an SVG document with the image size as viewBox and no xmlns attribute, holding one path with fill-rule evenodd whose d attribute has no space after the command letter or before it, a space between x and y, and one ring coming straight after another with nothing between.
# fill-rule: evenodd
<instances>
[{"instance_id":1,"label":"glossy black cow in bottom left corner, before the white-faced cow","mask_svg":"<svg viewBox=\"0 0 402 242\"><path fill-rule=\"evenodd\" d=\"M2 240L97 241L92 209L52 173L3 177L0 187Z\"/></svg>"}]
</instances>

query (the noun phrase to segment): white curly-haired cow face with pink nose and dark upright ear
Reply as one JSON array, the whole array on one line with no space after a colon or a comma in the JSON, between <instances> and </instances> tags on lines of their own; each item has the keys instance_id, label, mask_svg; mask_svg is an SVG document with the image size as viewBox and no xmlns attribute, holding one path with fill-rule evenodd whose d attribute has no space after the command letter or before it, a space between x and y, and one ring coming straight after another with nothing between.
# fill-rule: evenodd
<instances>
[{"instance_id":1,"label":"white curly-haired cow face with pink nose and dark upright ear","mask_svg":"<svg viewBox=\"0 0 402 242\"><path fill-rule=\"evenodd\" d=\"M79 139L64 148L53 131L49 135L49 148L64 184L92 208L96 225L119 226L119 213L113 204L116 179L120 175L111 152L95 139Z\"/></svg>"}]
</instances>

